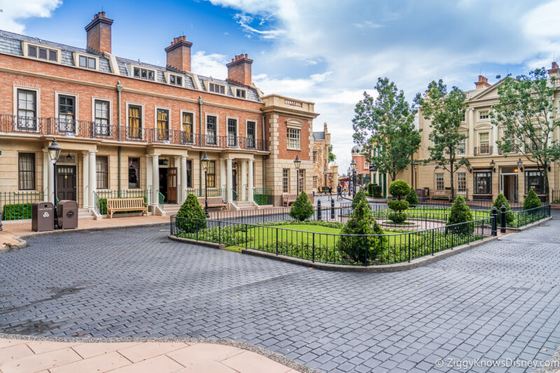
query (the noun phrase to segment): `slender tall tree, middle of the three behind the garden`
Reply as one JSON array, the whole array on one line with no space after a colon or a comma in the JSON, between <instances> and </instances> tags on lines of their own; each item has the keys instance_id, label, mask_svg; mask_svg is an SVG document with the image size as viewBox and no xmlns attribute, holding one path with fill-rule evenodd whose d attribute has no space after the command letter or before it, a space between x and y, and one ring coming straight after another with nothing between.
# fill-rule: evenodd
<instances>
[{"instance_id":1,"label":"slender tall tree, middle of the three behind the garden","mask_svg":"<svg viewBox=\"0 0 560 373\"><path fill-rule=\"evenodd\" d=\"M452 87L447 92L447 85L443 80L432 81L428 85L426 94L416 94L416 104L426 120L430 120L432 131L428 139L433 146L428 146L430 157L424 164L433 162L435 168L442 168L451 174L451 198L455 197L454 176L453 174L459 167L468 166L469 162L465 157L458 158L458 148L461 142L467 138L461 134L459 129L465 110L468 107L465 100L467 95L458 87Z\"/></svg>"}]
</instances>

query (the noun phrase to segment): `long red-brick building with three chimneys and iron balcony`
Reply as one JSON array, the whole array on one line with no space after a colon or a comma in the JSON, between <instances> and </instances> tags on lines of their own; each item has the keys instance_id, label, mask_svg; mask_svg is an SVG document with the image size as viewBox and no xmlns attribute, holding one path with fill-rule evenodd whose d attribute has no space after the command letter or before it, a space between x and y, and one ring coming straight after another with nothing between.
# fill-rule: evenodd
<instances>
[{"instance_id":1,"label":"long red-brick building with three chimneys and iron balcony","mask_svg":"<svg viewBox=\"0 0 560 373\"><path fill-rule=\"evenodd\" d=\"M296 155L311 191L313 103L263 95L248 55L227 64L226 80L197 75L185 36L165 48L166 66L117 57L112 23L94 15L86 48L0 31L0 193L54 201L54 138L57 197L90 211L116 190L174 211L188 192L201 195L205 152L208 188L232 209L254 206L255 190L274 204L295 192Z\"/></svg>"}]
</instances>

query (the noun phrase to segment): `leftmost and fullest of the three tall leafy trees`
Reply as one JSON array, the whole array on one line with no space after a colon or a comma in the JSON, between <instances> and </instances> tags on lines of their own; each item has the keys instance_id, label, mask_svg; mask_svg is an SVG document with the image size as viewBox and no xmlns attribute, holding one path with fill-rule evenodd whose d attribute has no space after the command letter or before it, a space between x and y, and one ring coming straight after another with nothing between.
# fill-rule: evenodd
<instances>
[{"instance_id":1,"label":"leftmost and fullest of the three tall leafy trees","mask_svg":"<svg viewBox=\"0 0 560 373\"><path fill-rule=\"evenodd\" d=\"M378 78L375 90L376 99L363 92L363 100L356 104L353 139L365 150L367 162L394 181L420 147L420 132L414 128L416 108L388 78Z\"/></svg>"}]
</instances>

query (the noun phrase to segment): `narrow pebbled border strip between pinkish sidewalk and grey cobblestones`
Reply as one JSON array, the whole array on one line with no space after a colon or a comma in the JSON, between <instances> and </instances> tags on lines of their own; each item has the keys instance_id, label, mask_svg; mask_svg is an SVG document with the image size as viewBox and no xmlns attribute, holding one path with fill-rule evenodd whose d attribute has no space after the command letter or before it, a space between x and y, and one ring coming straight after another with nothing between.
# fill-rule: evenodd
<instances>
[{"instance_id":1,"label":"narrow pebbled border strip between pinkish sidewalk and grey cobblestones","mask_svg":"<svg viewBox=\"0 0 560 373\"><path fill-rule=\"evenodd\" d=\"M179 338L179 337L112 337L112 338L80 338L80 337L38 337L33 335L11 335L0 332L0 339L24 339L27 341L48 341L48 342L81 342L81 343L113 343L113 342L187 342L187 343L207 343L207 344L224 344L226 346L237 347L238 349L244 349L246 351L251 351L258 353L265 358L274 360L276 363L286 365L297 372L302 373L321 373L318 370L307 367L297 361L287 358L279 353L263 349L262 347L255 346L254 344L248 344L246 342L237 342L230 339L218 339L218 338Z\"/></svg>"}]
</instances>

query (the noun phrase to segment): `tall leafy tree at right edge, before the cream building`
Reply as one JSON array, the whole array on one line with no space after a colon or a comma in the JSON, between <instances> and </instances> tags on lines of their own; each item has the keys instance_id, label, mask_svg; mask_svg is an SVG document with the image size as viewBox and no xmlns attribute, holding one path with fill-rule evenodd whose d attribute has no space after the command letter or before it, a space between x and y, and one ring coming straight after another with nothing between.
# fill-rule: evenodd
<instances>
[{"instance_id":1,"label":"tall leafy tree at right edge, before the cream building","mask_svg":"<svg viewBox=\"0 0 560 373\"><path fill-rule=\"evenodd\" d=\"M542 172L548 200L548 166L560 159L560 143L553 138L560 127L554 104L554 81L547 78L545 68L530 71L516 78L507 76L498 87L498 104L490 113L493 125L503 128L503 137L496 141L504 157L521 153L537 164Z\"/></svg>"}]
</instances>

